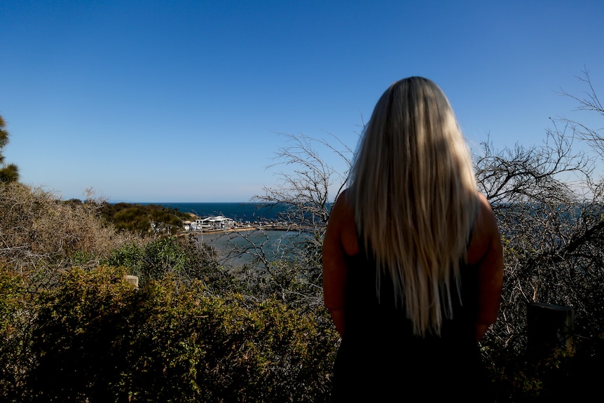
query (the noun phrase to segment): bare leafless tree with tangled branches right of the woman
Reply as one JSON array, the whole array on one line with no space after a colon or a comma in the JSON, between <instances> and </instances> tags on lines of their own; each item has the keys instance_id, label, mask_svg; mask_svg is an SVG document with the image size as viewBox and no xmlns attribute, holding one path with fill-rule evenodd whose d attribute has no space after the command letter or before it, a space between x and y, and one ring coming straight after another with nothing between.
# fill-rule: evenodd
<instances>
[{"instance_id":1,"label":"bare leafless tree with tangled branches right of the woman","mask_svg":"<svg viewBox=\"0 0 604 403\"><path fill-rule=\"evenodd\" d=\"M572 98L598 111L589 76L585 81L591 94ZM527 303L575 308L578 339L604 327L602 186L595 178L596 156L572 149L577 139L602 138L572 121L552 125L542 146L497 150L486 142L475 157L479 187L493 205L505 250L500 320L488 336L516 352L526 346ZM600 144L592 146L601 157Z\"/></svg>"}]
</instances>

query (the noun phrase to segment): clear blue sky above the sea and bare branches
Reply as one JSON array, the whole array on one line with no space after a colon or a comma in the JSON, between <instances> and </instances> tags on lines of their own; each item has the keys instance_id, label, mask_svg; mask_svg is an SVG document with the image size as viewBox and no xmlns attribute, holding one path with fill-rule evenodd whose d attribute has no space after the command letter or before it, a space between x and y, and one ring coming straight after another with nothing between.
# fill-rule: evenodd
<instances>
[{"instance_id":1,"label":"clear blue sky above the sea and bare branches","mask_svg":"<svg viewBox=\"0 0 604 403\"><path fill-rule=\"evenodd\" d=\"M247 201L275 183L278 133L355 148L412 75L469 142L540 144L584 67L604 97L603 21L601 0L0 0L4 156L64 199Z\"/></svg>"}]
</instances>

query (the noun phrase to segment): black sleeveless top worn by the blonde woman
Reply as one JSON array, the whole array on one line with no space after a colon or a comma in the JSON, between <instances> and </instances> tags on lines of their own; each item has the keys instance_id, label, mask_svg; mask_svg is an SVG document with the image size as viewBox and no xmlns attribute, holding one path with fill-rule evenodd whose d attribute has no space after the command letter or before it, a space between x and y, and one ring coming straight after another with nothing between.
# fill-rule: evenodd
<instances>
[{"instance_id":1,"label":"black sleeveless top worn by the blonde woman","mask_svg":"<svg viewBox=\"0 0 604 403\"><path fill-rule=\"evenodd\" d=\"M404 306L395 305L385 274L378 301L371 253L361 247L346 264L345 332L334 367L334 402L488 401L475 339L476 268L460 267L460 294L451 282L453 317L443 320L441 335L421 337L413 334Z\"/></svg>"}]
</instances>

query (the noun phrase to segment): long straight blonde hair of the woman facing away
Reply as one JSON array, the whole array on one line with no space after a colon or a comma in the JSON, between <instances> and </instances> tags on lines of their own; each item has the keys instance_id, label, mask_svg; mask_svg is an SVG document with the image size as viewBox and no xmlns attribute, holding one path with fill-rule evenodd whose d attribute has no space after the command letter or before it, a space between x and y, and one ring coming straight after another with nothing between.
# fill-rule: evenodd
<instances>
[{"instance_id":1,"label":"long straight blonde hair of the woman facing away","mask_svg":"<svg viewBox=\"0 0 604 403\"><path fill-rule=\"evenodd\" d=\"M440 334L452 312L476 214L476 178L442 90L410 77L373 109L350 175L350 202L365 250L390 275L413 332Z\"/></svg>"}]
</instances>

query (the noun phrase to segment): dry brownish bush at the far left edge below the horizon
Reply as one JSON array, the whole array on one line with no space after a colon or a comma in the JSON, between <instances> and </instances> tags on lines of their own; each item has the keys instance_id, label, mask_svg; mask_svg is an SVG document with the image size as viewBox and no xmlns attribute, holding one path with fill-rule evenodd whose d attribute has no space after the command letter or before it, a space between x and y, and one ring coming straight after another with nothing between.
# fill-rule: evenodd
<instances>
[{"instance_id":1,"label":"dry brownish bush at the far left edge below the horizon","mask_svg":"<svg viewBox=\"0 0 604 403\"><path fill-rule=\"evenodd\" d=\"M53 193L17 182L0 186L0 237L0 261L43 277L73 264L97 266L134 239L104 224L97 203L62 203Z\"/></svg>"}]
</instances>

